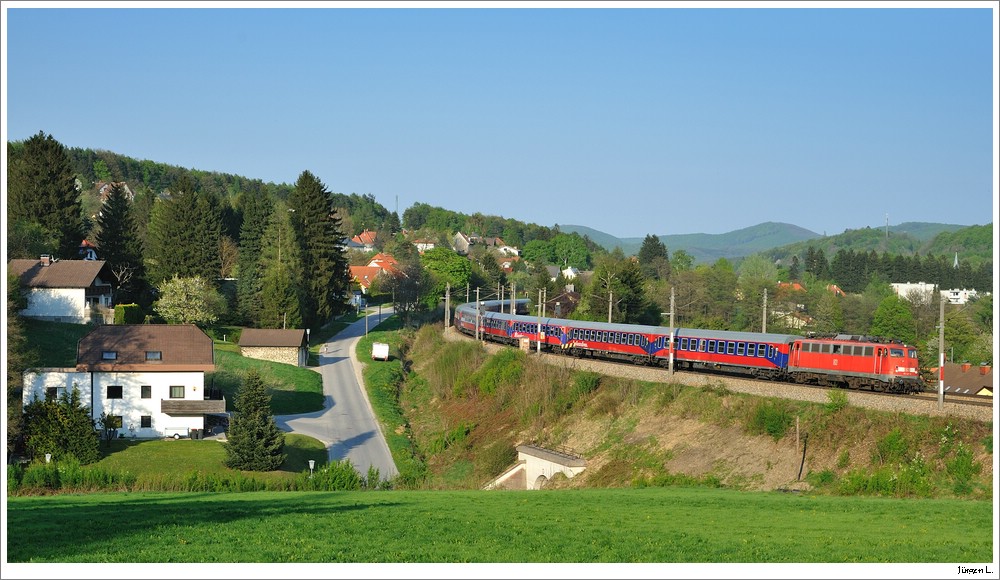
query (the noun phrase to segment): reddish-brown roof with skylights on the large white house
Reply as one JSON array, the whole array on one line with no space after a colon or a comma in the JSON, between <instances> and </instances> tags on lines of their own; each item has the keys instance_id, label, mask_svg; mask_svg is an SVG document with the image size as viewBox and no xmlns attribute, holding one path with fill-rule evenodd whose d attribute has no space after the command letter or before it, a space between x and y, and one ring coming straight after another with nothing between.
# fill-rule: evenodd
<instances>
[{"instance_id":1,"label":"reddish-brown roof with skylights on the large white house","mask_svg":"<svg viewBox=\"0 0 1000 580\"><path fill-rule=\"evenodd\" d=\"M114 353L105 358L104 353ZM147 353L158 352L159 360ZM76 348L78 371L211 371L212 339L193 324L98 326Z\"/></svg>"}]
</instances>

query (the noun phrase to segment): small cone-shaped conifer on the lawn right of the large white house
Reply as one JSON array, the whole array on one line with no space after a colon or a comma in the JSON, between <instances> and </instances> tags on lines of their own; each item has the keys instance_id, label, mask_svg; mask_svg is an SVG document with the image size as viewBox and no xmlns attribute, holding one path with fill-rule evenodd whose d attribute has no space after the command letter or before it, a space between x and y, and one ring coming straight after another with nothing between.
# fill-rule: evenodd
<instances>
[{"instance_id":1,"label":"small cone-shaped conifer on the lawn right of the large white house","mask_svg":"<svg viewBox=\"0 0 1000 580\"><path fill-rule=\"evenodd\" d=\"M236 393L235 411L226 435L226 467L274 471L285 461L285 434L271 415L271 395L257 369L247 371Z\"/></svg>"}]
</instances>

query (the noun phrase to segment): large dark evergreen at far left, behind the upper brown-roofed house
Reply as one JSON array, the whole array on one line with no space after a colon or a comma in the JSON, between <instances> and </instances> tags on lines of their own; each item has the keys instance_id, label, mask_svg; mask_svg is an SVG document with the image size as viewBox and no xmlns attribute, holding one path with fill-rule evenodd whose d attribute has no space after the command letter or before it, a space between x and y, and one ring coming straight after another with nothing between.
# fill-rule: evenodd
<instances>
[{"instance_id":1,"label":"large dark evergreen at far left, behind the upper brown-roofed house","mask_svg":"<svg viewBox=\"0 0 1000 580\"><path fill-rule=\"evenodd\" d=\"M39 131L7 155L8 223L41 224L56 234L58 257L76 258L86 228L66 148Z\"/></svg>"}]
</instances>

